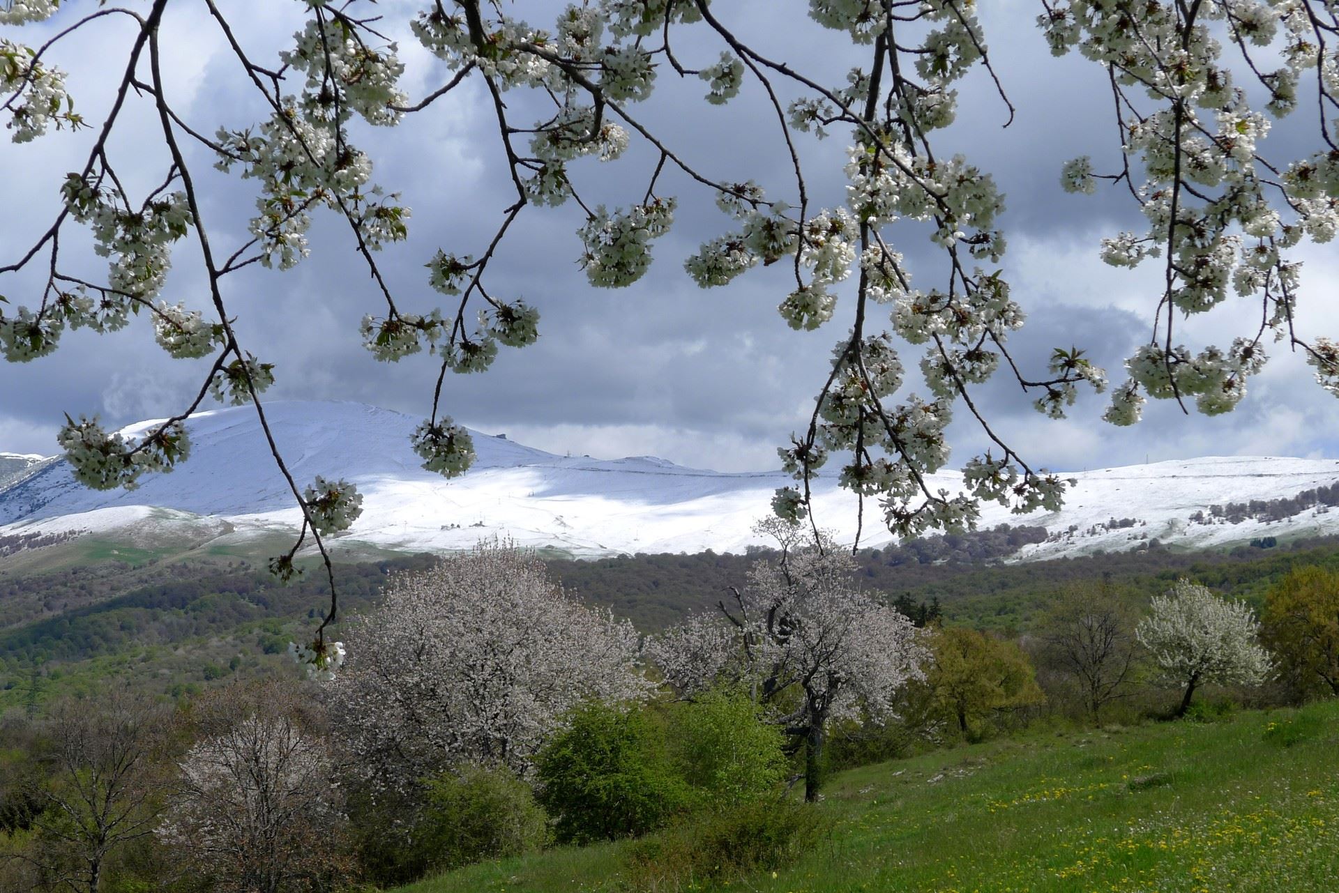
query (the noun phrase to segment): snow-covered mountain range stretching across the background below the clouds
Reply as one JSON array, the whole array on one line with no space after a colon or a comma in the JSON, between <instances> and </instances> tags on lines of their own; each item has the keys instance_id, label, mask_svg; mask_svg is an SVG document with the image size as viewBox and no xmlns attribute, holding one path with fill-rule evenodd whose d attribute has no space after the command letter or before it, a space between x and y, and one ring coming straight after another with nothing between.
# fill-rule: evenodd
<instances>
[{"instance_id":1,"label":"snow-covered mountain range stretching across the background below the clouds","mask_svg":"<svg viewBox=\"0 0 1339 893\"><path fill-rule=\"evenodd\" d=\"M742 552L758 542L750 527L767 513L773 491L789 483L779 471L723 474L653 457L560 457L479 432L475 466L446 481L420 469L410 450L416 418L315 402L273 403L266 414L300 485L320 474L352 481L363 493L363 515L336 540L345 550L453 550L498 534L590 557ZM138 545L244 549L296 532L300 514L249 407L202 412L187 427L190 461L171 474L146 475L133 491L87 490L64 462L0 454L0 537L87 532ZM7 482L8 469L15 471ZM1332 459L1223 457L1070 477L1078 485L1062 511L1014 515L991 505L981 526L1044 526L1047 541L1026 546L1019 558L1125 550L1154 538L1208 548L1339 533L1339 510L1326 505L1339 501L1327 491L1339 497ZM931 485L956 493L961 479L941 473ZM1318 490L1319 499L1280 502ZM1229 503L1247 505L1214 513ZM854 536L854 499L834 481L817 483L815 506L821 525L848 541ZM865 514L862 542L889 542L877 507Z\"/></svg>"}]
</instances>

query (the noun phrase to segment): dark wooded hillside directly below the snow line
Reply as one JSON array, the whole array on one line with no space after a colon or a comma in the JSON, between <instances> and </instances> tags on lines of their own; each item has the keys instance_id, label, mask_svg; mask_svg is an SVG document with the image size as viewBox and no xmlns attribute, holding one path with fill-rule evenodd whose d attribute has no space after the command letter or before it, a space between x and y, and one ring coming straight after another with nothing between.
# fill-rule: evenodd
<instances>
[{"instance_id":1,"label":"dark wooded hillside directly below the snow line","mask_svg":"<svg viewBox=\"0 0 1339 893\"><path fill-rule=\"evenodd\" d=\"M1145 549L995 566L907 562L901 552L862 552L862 585L889 600L939 602L948 623L1010 635L1028 632L1056 593L1085 581L1115 585L1137 609L1182 576L1259 605L1264 590L1293 566L1339 568L1335 540L1231 553ZM311 635L316 612L328 601L321 573L281 586L262 568L237 558L139 556L133 564L131 557L104 554L98 562L40 573L0 570L0 714L35 698L35 685L44 700L94 691L116 676L175 696L238 675L291 672L288 643ZM400 556L337 565L341 616L371 605L387 573L431 560ZM714 611L727 586L744 584L754 560L698 553L548 564L588 602L655 632L691 612Z\"/></svg>"}]
</instances>

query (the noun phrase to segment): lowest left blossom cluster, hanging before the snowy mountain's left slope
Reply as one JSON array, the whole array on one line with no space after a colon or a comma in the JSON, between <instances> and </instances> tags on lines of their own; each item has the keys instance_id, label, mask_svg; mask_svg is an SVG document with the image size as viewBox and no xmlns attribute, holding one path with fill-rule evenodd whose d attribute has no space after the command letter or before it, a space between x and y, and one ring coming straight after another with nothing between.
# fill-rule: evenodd
<instances>
[{"instance_id":1,"label":"lowest left blossom cluster, hanging before the snowy mountain's left slope","mask_svg":"<svg viewBox=\"0 0 1339 893\"><path fill-rule=\"evenodd\" d=\"M134 490L146 471L171 471L190 457L190 438L181 422L155 428L142 440L108 434L98 419L66 418L56 432L75 481L94 490Z\"/></svg>"}]
</instances>

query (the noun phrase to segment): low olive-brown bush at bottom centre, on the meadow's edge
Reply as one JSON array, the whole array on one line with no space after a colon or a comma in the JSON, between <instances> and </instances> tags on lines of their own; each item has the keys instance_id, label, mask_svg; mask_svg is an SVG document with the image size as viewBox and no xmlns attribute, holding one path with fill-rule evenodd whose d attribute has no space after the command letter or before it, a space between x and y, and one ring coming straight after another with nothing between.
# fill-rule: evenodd
<instances>
[{"instance_id":1,"label":"low olive-brown bush at bottom centre, on the meadow's edge","mask_svg":"<svg viewBox=\"0 0 1339 893\"><path fill-rule=\"evenodd\" d=\"M794 862L825 830L823 815L802 803L739 803L637 841L628 849L629 876L643 890L728 882Z\"/></svg>"}]
</instances>

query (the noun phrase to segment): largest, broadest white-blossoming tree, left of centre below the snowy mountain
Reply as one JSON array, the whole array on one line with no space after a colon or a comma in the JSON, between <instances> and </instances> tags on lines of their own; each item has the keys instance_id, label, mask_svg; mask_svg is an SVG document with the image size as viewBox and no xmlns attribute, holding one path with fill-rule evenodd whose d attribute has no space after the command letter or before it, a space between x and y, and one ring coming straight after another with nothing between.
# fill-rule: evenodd
<instances>
[{"instance_id":1,"label":"largest, broadest white-blossoming tree, left of centre below the snowy mountain","mask_svg":"<svg viewBox=\"0 0 1339 893\"><path fill-rule=\"evenodd\" d=\"M631 623L495 542L392 577L348 640L327 689L336 728L374 785L400 791L467 762L524 773L570 707L649 688Z\"/></svg>"}]
</instances>

